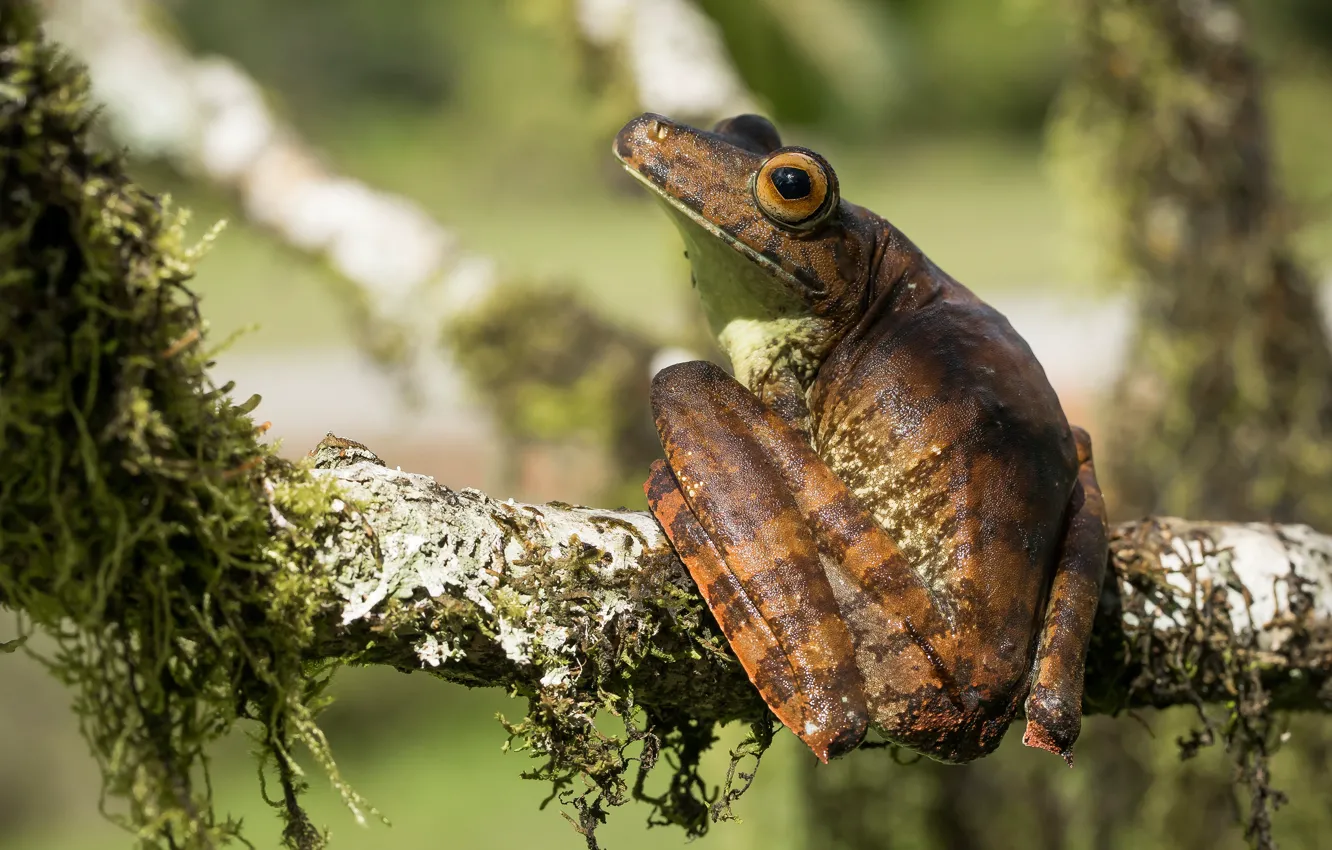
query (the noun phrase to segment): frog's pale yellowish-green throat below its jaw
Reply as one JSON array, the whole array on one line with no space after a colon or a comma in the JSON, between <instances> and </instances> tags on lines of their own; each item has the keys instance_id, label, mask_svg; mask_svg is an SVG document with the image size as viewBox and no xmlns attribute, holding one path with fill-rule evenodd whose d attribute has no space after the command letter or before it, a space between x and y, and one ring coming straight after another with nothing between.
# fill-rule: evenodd
<instances>
[{"instance_id":1,"label":"frog's pale yellowish-green throat below its jaw","mask_svg":"<svg viewBox=\"0 0 1332 850\"><path fill-rule=\"evenodd\" d=\"M685 240L703 313L735 380L758 392L783 373L809 389L827 356L831 328L814 316L801 290L773 274L725 233L667 204ZM738 249L738 246L741 249Z\"/></svg>"}]
</instances>

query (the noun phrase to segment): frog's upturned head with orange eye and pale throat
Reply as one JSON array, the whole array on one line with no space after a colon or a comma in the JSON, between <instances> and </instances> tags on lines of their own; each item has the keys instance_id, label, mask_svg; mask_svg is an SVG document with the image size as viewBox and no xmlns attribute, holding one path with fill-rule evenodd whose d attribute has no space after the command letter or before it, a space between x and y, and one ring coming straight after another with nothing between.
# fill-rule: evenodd
<instances>
[{"instance_id":1,"label":"frog's upturned head with orange eye and pale throat","mask_svg":"<svg viewBox=\"0 0 1332 850\"><path fill-rule=\"evenodd\" d=\"M705 132L642 115L614 151L673 213L737 377L753 389L787 357L811 380L864 309L884 222L842 200L827 160L782 147L759 116Z\"/></svg>"}]
</instances>

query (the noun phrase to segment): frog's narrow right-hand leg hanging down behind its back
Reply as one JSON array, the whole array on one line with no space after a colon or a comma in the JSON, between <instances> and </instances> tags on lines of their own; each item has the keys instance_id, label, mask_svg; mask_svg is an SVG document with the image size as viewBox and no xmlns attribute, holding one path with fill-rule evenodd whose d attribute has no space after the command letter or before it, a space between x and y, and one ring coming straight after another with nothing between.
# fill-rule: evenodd
<instances>
[{"instance_id":1,"label":"frog's narrow right-hand leg hanging down behind its back","mask_svg":"<svg viewBox=\"0 0 1332 850\"><path fill-rule=\"evenodd\" d=\"M1071 766L1082 730L1083 669L1108 554L1106 501L1096 484L1091 437L1074 428L1078 485L1068 505L1059 564L1050 588L1046 621L1027 695L1027 746L1063 755Z\"/></svg>"}]
</instances>

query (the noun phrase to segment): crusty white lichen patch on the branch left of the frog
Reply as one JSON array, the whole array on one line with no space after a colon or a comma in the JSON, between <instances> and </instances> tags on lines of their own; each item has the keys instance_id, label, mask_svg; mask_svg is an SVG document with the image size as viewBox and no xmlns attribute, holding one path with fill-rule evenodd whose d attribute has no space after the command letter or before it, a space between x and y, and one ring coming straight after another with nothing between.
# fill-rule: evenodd
<instances>
[{"instance_id":1,"label":"crusty white lichen patch on the branch left of the frog","mask_svg":"<svg viewBox=\"0 0 1332 850\"><path fill-rule=\"evenodd\" d=\"M649 549L667 549L651 514L498 501L370 464L329 474L348 501L374 505L366 522L380 554L341 572L344 624L382 616L393 598L414 598L422 610L442 597L466 600L480 614L470 625L489 634L510 662L535 667L543 687L555 687L577 677L578 647L599 639L617 618L650 620L623 570L641 569ZM333 541L330 549L345 549L345 542ZM565 598L545 592L575 572L595 577L585 582L585 593ZM534 573L539 578L529 578ZM433 634L417 638L413 649L430 667L462 657L461 647Z\"/></svg>"}]
</instances>

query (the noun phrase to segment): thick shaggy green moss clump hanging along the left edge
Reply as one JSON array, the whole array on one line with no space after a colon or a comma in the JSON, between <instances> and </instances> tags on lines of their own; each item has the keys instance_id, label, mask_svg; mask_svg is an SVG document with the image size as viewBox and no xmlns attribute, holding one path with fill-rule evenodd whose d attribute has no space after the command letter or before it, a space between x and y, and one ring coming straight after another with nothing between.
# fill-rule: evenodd
<instances>
[{"instance_id":1,"label":"thick shaggy green moss clump hanging along the left edge","mask_svg":"<svg viewBox=\"0 0 1332 850\"><path fill-rule=\"evenodd\" d=\"M27 4L0 16L0 604L56 639L109 817L141 847L210 847L209 742L257 721L293 847L326 670L305 650L345 534L330 485L257 440L208 378L184 216L89 144L83 72ZM344 510L349 510L344 508ZM344 789L345 791L345 789ZM348 799L354 797L345 791Z\"/></svg>"}]
</instances>

